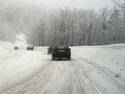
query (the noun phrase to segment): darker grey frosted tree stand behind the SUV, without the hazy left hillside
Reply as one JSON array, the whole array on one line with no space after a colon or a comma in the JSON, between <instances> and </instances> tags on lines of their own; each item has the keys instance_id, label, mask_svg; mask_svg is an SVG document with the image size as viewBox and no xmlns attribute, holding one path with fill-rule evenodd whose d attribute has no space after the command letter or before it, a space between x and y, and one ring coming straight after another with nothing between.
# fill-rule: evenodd
<instances>
[{"instance_id":1,"label":"darker grey frosted tree stand behind the SUV, without the hazy left hillside","mask_svg":"<svg viewBox=\"0 0 125 94\"><path fill-rule=\"evenodd\" d=\"M57 9L46 14L29 33L35 46L107 45L125 42L125 4L92 10ZM122 6L122 7L121 7Z\"/></svg>"}]
</instances>

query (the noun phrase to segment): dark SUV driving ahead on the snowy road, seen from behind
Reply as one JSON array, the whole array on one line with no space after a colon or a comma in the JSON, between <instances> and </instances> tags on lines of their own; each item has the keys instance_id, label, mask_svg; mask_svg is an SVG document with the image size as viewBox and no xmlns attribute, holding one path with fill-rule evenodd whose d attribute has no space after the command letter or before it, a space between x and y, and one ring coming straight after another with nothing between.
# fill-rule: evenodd
<instances>
[{"instance_id":1,"label":"dark SUV driving ahead on the snowy road, seen from behind","mask_svg":"<svg viewBox=\"0 0 125 94\"><path fill-rule=\"evenodd\" d=\"M69 47L55 47L52 49L52 60L68 59L71 60L71 49Z\"/></svg>"}]
</instances>

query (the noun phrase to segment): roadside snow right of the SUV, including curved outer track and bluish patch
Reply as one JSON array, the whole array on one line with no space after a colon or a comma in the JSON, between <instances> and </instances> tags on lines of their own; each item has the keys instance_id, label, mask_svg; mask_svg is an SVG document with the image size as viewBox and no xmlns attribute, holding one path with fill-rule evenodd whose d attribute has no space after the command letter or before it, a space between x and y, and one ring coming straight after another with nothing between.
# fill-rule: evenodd
<instances>
[{"instance_id":1,"label":"roadside snow right of the SUV, including curved outer track and bluish patch","mask_svg":"<svg viewBox=\"0 0 125 94\"><path fill-rule=\"evenodd\" d=\"M125 44L73 47L88 78L106 94L125 92Z\"/></svg>"}]
</instances>

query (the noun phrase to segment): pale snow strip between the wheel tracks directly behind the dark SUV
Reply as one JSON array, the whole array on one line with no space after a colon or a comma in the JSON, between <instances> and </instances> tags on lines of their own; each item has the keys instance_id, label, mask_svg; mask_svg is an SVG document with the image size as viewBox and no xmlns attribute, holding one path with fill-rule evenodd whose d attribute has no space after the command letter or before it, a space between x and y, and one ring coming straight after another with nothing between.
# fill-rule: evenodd
<instances>
[{"instance_id":1,"label":"pale snow strip between the wheel tracks directly behind the dark SUV","mask_svg":"<svg viewBox=\"0 0 125 94\"><path fill-rule=\"evenodd\" d=\"M67 61L52 61L56 64L52 79L40 94L72 94L71 67Z\"/></svg>"}]
</instances>

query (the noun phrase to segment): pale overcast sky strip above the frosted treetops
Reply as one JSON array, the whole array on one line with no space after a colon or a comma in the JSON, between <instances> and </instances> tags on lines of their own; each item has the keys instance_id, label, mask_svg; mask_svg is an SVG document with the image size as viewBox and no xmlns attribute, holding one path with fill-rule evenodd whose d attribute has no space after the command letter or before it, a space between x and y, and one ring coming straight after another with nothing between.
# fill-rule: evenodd
<instances>
[{"instance_id":1,"label":"pale overcast sky strip above the frosted treetops","mask_svg":"<svg viewBox=\"0 0 125 94\"><path fill-rule=\"evenodd\" d=\"M1 1L1 0L0 0ZM82 8L82 9L94 9L100 10L104 7L111 7L112 0L2 0L8 1L8 3L18 1L29 3L29 4L38 4L46 7L71 7L71 8Z\"/></svg>"}]
</instances>

